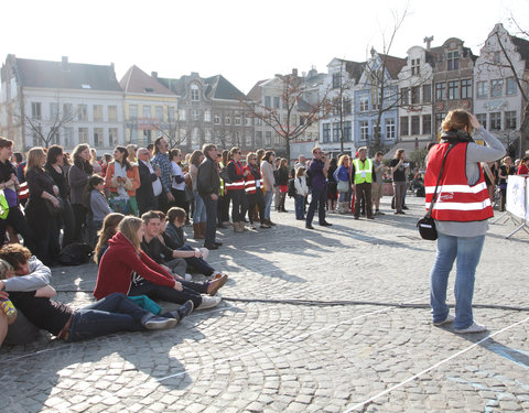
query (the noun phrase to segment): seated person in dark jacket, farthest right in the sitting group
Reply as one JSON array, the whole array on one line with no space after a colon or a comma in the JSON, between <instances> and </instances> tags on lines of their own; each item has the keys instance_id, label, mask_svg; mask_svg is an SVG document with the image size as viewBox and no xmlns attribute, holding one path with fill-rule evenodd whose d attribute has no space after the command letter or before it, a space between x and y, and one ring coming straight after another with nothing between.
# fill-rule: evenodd
<instances>
[{"instance_id":1,"label":"seated person in dark jacket, farthest right in the sitting group","mask_svg":"<svg viewBox=\"0 0 529 413\"><path fill-rule=\"evenodd\" d=\"M162 213L163 214L163 213ZM188 267L204 274L206 276L213 276L214 279L228 276L220 271L215 270L206 262L206 258L209 256L207 248L193 248L185 243L185 225L186 214L183 208L172 207L168 211L168 220L161 219L160 237L163 238L163 243L166 247L176 251L194 252L193 257L185 257L184 260ZM198 256L199 257L196 257Z\"/></svg>"}]
</instances>

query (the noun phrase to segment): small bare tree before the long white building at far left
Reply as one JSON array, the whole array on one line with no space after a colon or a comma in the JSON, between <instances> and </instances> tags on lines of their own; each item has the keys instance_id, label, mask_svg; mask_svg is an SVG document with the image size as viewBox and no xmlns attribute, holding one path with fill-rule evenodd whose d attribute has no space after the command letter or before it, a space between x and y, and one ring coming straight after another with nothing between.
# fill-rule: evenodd
<instances>
[{"instance_id":1,"label":"small bare tree before the long white building at far left","mask_svg":"<svg viewBox=\"0 0 529 413\"><path fill-rule=\"evenodd\" d=\"M52 105L54 109L50 111L47 119L42 117L42 112L28 115L25 110L20 110L21 108L18 111L21 115L17 116L20 123L31 132L33 139L36 138L44 148L53 144L54 140L58 141L61 130L77 118L73 106L71 104L61 105L60 97ZM42 107L40 109L42 110Z\"/></svg>"}]
</instances>

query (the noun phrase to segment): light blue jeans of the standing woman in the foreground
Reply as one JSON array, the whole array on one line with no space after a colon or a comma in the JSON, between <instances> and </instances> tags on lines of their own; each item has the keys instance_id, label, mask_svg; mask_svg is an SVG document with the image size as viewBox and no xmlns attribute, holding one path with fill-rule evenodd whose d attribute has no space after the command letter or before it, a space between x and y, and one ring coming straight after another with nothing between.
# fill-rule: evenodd
<instances>
[{"instance_id":1,"label":"light blue jeans of the standing woman in the foreground","mask_svg":"<svg viewBox=\"0 0 529 413\"><path fill-rule=\"evenodd\" d=\"M446 287L450 271L456 259L454 327L463 329L474 323L472 316L474 275L484 242L485 236L453 237L444 233L438 235L438 254L430 273L430 306L432 307L434 323L444 320L449 315Z\"/></svg>"}]
</instances>

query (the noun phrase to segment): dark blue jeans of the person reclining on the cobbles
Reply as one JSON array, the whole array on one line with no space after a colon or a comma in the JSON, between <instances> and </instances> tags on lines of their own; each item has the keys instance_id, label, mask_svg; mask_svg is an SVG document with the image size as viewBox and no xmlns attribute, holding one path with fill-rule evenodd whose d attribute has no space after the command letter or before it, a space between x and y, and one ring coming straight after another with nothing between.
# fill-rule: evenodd
<instances>
[{"instance_id":1,"label":"dark blue jeans of the person reclining on the cobbles","mask_svg":"<svg viewBox=\"0 0 529 413\"><path fill-rule=\"evenodd\" d=\"M142 330L142 319L149 314L128 296L112 293L97 303L75 311L68 341L80 341L123 330Z\"/></svg>"}]
</instances>

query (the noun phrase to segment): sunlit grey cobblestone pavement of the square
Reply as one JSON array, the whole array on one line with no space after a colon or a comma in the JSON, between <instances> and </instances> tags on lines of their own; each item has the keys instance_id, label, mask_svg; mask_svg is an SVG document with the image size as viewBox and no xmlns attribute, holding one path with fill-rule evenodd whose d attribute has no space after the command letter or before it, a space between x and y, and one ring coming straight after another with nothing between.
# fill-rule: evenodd
<instances>
[{"instance_id":1,"label":"sunlit grey cobblestone pavement of the square","mask_svg":"<svg viewBox=\"0 0 529 413\"><path fill-rule=\"evenodd\" d=\"M226 300L171 330L2 348L0 411L529 411L528 312L477 307L489 330L457 335L432 326L428 308L390 305L429 302L435 243L414 228L423 198L409 197L406 216L391 214L388 202L375 221L331 215L333 227L311 231L289 211L272 215L273 229L222 230L225 246L209 261L230 276ZM492 225L476 304L528 306L529 236L506 240L514 228ZM64 268L53 284L91 291L95 278L94 264ZM58 300L82 306L91 295Z\"/></svg>"}]
</instances>

